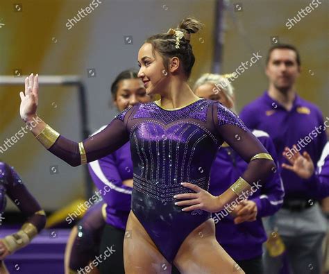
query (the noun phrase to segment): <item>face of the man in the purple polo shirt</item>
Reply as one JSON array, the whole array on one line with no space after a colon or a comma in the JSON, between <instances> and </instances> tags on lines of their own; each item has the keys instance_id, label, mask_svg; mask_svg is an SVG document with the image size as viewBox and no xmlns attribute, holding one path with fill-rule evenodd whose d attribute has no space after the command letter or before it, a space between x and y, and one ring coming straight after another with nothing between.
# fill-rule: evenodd
<instances>
[{"instance_id":1,"label":"face of the man in the purple polo shirt","mask_svg":"<svg viewBox=\"0 0 329 274\"><path fill-rule=\"evenodd\" d=\"M291 49L274 49L267 63L266 74L269 82L279 90L291 88L299 76L300 67L296 53Z\"/></svg>"}]
</instances>

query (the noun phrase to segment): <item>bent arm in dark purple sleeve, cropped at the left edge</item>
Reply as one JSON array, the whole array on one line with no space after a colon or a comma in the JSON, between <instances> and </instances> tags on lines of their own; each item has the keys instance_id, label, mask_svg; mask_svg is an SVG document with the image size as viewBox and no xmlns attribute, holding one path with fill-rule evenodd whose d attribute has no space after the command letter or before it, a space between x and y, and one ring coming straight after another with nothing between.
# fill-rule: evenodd
<instances>
[{"instance_id":1,"label":"bent arm in dark purple sleeve, cropped at the left edge","mask_svg":"<svg viewBox=\"0 0 329 274\"><path fill-rule=\"evenodd\" d=\"M7 164L5 165L5 173L7 195L27 219L26 223L24 223L18 232L8 235L1 240L7 250L12 253L28 245L28 243L30 243L44 228L46 224L46 214L39 203L37 203L37 200L35 200L28 189L26 189L16 171Z\"/></svg>"}]
</instances>

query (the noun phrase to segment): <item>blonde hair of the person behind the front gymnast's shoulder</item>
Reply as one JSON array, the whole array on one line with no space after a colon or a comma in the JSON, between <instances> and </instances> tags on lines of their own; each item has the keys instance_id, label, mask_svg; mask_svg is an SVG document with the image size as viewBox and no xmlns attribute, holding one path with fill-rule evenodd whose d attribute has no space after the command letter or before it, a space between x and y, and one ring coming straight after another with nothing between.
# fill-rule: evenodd
<instances>
[{"instance_id":1,"label":"blonde hair of the person behind the front gymnast's shoulder","mask_svg":"<svg viewBox=\"0 0 329 274\"><path fill-rule=\"evenodd\" d=\"M222 91L223 94L225 94L226 98L230 103L232 103L233 107L231 110L235 112L235 103L234 103L234 87L231 85L229 77L224 77L220 74L203 74L198 80L196 80L196 83L194 84L194 92L198 87L205 84L213 84L214 88L212 91L214 94L217 94L218 92Z\"/></svg>"}]
</instances>

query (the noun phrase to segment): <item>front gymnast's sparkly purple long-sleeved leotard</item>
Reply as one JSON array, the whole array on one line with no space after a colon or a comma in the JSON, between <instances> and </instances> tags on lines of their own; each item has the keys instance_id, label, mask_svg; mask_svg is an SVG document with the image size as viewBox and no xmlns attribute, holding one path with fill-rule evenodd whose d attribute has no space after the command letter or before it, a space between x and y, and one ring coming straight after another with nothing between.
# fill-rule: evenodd
<instances>
[{"instance_id":1,"label":"front gymnast's sparkly purple long-sleeved leotard","mask_svg":"<svg viewBox=\"0 0 329 274\"><path fill-rule=\"evenodd\" d=\"M267 153L233 112L205 99L178 110L165 110L155 102L124 110L104 130L85 139L87 162L109 155L129 140L132 210L169 262L187 235L210 218L208 212L183 212L174 204L174 195L192 192L180 183L208 189L210 167L224 141L246 162ZM58 137L49 151L71 166L81 164L78 143L65 137ZM250 183L264 181L273 166L269 160L253 160L242 178Z\"/></svg>"}]
</instances>

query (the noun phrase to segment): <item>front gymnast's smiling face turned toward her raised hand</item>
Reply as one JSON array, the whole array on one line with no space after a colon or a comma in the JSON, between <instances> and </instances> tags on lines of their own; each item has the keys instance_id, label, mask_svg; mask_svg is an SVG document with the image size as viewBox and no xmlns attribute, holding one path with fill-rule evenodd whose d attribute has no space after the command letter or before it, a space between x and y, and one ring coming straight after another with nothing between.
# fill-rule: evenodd
<instances>
[{"instance_id":1,"label":"front gymnast's smiling face turned toward her raised hand","mask_svg":"<svg viewBox=\"0 0 329 274\"><path fill-rule=\"evenodd\" d=\"M163 58L152 49L152 44L145 43L138 51L138 77L144 83L147 95L161 94L169 83L169 72L165 69Z\"/></svg>"}]
</instances>

